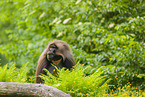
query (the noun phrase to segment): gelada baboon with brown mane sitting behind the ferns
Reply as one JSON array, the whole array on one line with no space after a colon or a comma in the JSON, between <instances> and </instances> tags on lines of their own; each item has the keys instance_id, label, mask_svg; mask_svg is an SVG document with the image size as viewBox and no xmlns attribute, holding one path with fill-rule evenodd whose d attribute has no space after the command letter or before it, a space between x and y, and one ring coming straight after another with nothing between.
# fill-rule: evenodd
<instances>
[{"instance_id":1,"label":"gelada baboon with brown mane sitting behind the ferns","mask_svg":"<svg viewBox=\"0 0 145 97\"><path fill-rule=\"evenodd\" d=\"M46 75L46 72L43 70L44 68L46 68L51 74L54 74L56 73L54 66L60 69L65 67L70 70L74 65L75 60L70 46L62 40L52 41L39 57L35 83L42 83L42 79L38 77L38 75Z\"/></svg>"}]
</instances>

